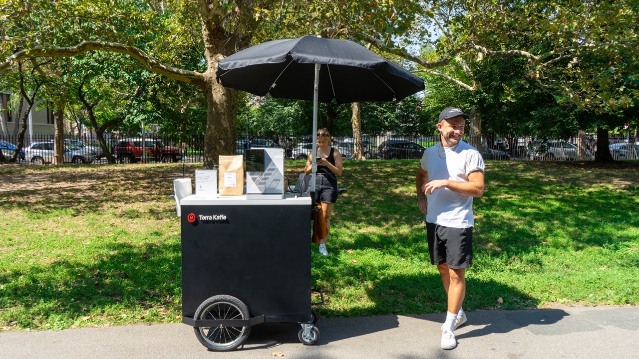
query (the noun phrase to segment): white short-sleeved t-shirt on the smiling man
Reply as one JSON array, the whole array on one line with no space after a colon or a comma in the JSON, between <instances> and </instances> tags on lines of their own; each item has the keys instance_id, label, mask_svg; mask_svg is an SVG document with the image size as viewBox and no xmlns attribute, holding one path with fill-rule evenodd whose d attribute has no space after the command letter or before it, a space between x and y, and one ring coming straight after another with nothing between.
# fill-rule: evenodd
<instances>
[{"instance_id":1,"label":"white short-sleeved t-shirt on the smiling man","mask_svg":"<svg viewBox=\"0 0 639 359\"><path fill-rule=\"evenodd\" d=\"M428 172L428 180L450 179L467 182L468 174L484 172L484 159L477 149L464 141L456 146L443 147L441 143L424 151L422 169ZM438 188L427 195L428 214L426 221L445 227L468 228L475 225L473 219L473 197L456 194L448 188Z\"/></svg>"}]
</instances>

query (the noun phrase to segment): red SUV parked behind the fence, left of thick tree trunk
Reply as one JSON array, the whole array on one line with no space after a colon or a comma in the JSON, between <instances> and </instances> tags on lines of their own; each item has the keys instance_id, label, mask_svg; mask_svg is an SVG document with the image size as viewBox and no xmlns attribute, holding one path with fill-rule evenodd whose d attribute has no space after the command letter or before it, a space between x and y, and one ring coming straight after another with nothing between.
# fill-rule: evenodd
<instances>
[{"instance_id":1,"label":"red SUV parked behind the fence, left of thick tree trunk","mask_svg":"<svg viewBox=\"0 0 639 359\"><path fill-rule=\"evenodd\" d=\"M162 141L146 139L146 160L176 162L182 159L180 149L166 146ZM123 139L116 143L113 155L121 164L134 164L142 160L142 139Z\"/></svg>"}]
</instances>

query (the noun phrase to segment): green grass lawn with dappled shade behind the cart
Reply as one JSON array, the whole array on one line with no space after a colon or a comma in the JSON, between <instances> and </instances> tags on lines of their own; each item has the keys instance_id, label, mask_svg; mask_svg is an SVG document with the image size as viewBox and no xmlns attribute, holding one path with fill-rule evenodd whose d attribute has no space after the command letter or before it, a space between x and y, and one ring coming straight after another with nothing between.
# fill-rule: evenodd
<instances>
[{"instance_id":1,"label":"green grass lawn with dappled shade behind the cart","mask_svg":"<svg viewBox=\"0 0 639 359\"><path fill-rule=\"evenodd\" d=\"M291 178L302 161L287 161ZM417 160L344 163L321 317L445 310ZM193 173L201 164L189 164ZM0 330L181 321L181 164L0 167ZM296 176L295 176L296 178ZM464 307L639 304L639 162L486 164Z\"/></svg>"}]
</instances>

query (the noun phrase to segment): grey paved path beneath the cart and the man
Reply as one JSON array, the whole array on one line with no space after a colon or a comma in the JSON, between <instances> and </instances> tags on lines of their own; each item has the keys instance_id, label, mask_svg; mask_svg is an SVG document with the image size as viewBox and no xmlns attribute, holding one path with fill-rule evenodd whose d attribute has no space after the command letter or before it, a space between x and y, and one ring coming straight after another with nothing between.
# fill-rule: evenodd
<instances>
[{"instance_id":1,"label":"grey paved path beneath the cart and the man","mask_svg":"<svg viewBox=\"0 0 639 359\"><path fill-rule=\"evenodd\" d=\"M298 342L299 325L254 326L245 346L207 351L184 324L0 333L0 358L639 358L639 307L467 312L458 348L439 348L444 314L320 319L319 346Z\"/></svg>"}]
</instances>

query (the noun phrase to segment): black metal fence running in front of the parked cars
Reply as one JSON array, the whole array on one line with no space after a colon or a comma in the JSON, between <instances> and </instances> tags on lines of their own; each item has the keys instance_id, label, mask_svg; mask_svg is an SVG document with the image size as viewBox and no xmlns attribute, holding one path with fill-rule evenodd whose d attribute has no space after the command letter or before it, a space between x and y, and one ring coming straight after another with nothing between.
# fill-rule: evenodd
<instances>
[{"instance_id":1,"label":"black metal fence running in front of the parked cars","mask_svg":"<svg viewBox=\"0 0 639 359\"><path fill-rule=\"evenodd\" d=\"M204 138L176 138L160 135L130 136L107 134L104 136L107 151L118 163L153 162L203 162ZM17 162L21 164L47 164L53 160L52 135L28 136ZM472 141L468 136L466 142ZM364 156L368 159L421 158L424 148L440 141L439 137L419 135L364 135ZM628 137L610 137L609 150L615 160L639 159L639 143ZM65 162L106 164L105 151L95 137L66 134ZM578 160L580 151L576 138L567 140L535 139L535 137L484 137L481 139L481 153L487 160ZM0 149L9 158L15 151L17 138L0 136ZM249 145L250 144L250 145ZM247 146L282 147L288 159L304 159L311 153L311 135L238 135L235 153L242 154ZM335 136L332 146L344 158L352 158L353 138ZM585 153L581 158L594 160L596 141L592 137L585 141ZM479 147L479 146L477 146Z\"/></svg>"}]
</instances>

